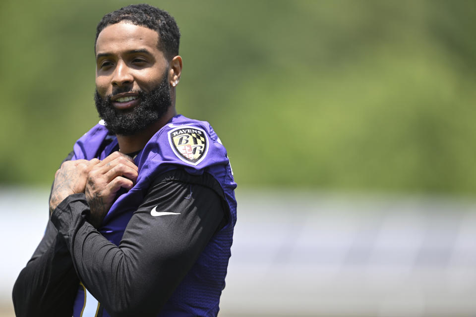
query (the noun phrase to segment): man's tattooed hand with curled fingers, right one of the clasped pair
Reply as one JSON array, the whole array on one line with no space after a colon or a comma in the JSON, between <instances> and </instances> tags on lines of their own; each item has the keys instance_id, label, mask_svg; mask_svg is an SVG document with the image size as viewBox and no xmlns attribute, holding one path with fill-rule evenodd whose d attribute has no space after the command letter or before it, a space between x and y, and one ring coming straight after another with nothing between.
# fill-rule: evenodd
<instances>
[{"instance_id":1,"label":"man's tattooed hand with curled fingers, right one of the clasped pair","mask_svg":"<svg viewBox=\"0 0 476 317\"><path fill-rule=\"evenodd\" d=\"M85 194L91 209L89 222L95 228L99 227L113 205L119 189L134 186L137 171L134 160L120 152L114 152L91 169Z\"/></svg>"}]
</instances>

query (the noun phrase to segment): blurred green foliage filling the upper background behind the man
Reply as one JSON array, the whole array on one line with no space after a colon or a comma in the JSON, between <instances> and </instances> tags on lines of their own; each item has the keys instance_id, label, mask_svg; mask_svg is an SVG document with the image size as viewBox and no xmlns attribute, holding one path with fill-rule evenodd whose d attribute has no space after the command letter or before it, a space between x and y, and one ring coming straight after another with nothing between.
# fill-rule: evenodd
<instances>
[{"instance_id":1,"label":"blurred green foliage filling the upper background behind the man","mask_svg":"<svg viewBox=\"0 0 476 317\"><path fill-rule=\"evenodd\" d=\"M1 1L0 184L49 185L98 121L95 27L129 3ZM475 195L476 1L149 3L239 185Z\"/></svg>"}]
</instances>

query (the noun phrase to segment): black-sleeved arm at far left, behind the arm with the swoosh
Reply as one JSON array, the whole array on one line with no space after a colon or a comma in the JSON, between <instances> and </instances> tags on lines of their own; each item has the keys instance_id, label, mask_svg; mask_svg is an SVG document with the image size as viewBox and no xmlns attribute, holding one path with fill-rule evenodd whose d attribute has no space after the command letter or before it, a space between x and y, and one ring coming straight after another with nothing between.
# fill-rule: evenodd
<instances>
[{"instance_id":1,"label":"black-sleeved arm at far left, behind the arm with the swoosh","mask_svg":"<svg viewBox=\"0 0 476 317\"><path fill-rule=\"evenodd\" d=\"M13 286L16 316L71 316L78 283L66 244L49 220L43 239Z\"/></svg>"}]
</instances>

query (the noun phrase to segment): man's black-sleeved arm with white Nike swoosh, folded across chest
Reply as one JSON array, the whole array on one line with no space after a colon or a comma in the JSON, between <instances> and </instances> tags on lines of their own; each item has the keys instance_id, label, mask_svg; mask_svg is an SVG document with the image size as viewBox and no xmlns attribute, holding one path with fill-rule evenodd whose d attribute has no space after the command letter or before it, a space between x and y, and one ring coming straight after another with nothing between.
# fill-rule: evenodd
<instances>
[{"instance_id":1,"label":"man's black-sleeved arm with white Nike swoosh, folded across chest","mask_svg":"<svg viewBox=\"0 0 476 317\"><path fill-rule=\"evenodd\" d=\"M161 175L134 212L119 246L86 221L90 211L84 194L66 198L52 221L66 240L81 281L108 313L153 316L220 227L224 208L217 188L207 174L175 170ZM154 208L179 214L154 216Z\"/></svg>"}]
</instances>

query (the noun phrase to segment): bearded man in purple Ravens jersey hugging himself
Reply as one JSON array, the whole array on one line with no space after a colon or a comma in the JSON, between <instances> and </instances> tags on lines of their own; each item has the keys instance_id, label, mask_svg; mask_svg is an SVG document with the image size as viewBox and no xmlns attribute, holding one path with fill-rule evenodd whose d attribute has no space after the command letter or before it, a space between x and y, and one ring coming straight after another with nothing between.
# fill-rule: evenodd
<instances>
[{"instance_id":1,"label":"bearded man in purple Ravens jersey hugging himself","mask_svg":"<svg viewBox=\"0 0 476 317\"><path fill-rule=\"evenodd\" d=\"M100 122L55 175L45 236L13 288L17 316L216 316L236 201L225 148L177 115L179 29L139 4L96 34Z\"/></svg>"}]
</instances>

